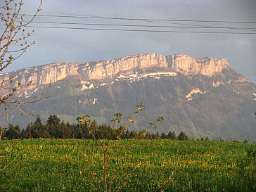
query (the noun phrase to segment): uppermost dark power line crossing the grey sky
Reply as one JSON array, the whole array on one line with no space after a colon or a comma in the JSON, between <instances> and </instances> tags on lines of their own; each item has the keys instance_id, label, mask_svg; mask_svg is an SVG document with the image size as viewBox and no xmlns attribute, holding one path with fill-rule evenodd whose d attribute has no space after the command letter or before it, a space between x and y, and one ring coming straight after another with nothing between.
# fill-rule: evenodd
<instances>
[{"instance_id":1,"label":"uppermost dark power line crossing the grey sky","mask_svg":"<svg viewBox=\"0 0 256 192\"><path fill-rule=\"evenodd\" d=\"M64 13L63 13L64 14ZM24 14L25 16L34 16L32 14ZM197 22L197 23L256 23L256 21L228 21L228 20L174 20L174 19L152 19L152 18L112 18L93 15L37 15L37 17L52 18L91 18L91 19L109 19L109 20L140 20L140 21L176 21L176 22Z\"/></svg>"}]
</instances>

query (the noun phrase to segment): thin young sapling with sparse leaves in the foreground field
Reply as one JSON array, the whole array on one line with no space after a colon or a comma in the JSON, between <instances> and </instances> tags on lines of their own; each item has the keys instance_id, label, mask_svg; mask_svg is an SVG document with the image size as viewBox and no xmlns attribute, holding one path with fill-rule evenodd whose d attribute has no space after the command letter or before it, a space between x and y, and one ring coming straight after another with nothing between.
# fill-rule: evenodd
<instances>
[{"instance_id":1,"label":"thin young sapling with sparse leaves in the foreground field","mask_svg":"<svg viewBox=\"0 0 256 192\"><path fill-rule=\"evenodd\" d=\"M103 184L103 188L105 192L108 191L119 191L122 187L122 185L117 184L117 180L119 179L125 179L127 177L132 176L132 172L136 171L136 169L139 168L140 162L135 167L132 167L132 172L127 172L127 175L125 178L120 178L118 174L113 174L113 172L118 172L118 169L123 170L126 162L123 162L122 165L118 165L114 167L115 170L113 170L113 167L110 166L111 160L115 159L117 155L120 153L124 153L125 151L129 150L129 148L132 146L133 140L129 140L127 146L118 146L117 142L113 140L120 140L123 138L125 133L128 133L127 124L134 124L134 116L138 113L141 113L143 110L143 104L140 103L139 105L136 105L136 110L132 114L131 117L127 117L125 122L122 122L123 115L122 113L116 113L114 116L114 119L111 120L113 122L113 126L110 127L110 129L113 132L113 139L103 139L101 135L101 127L98 127L96 125L95 120L91 120L91 117L89 115L82 115L77 117L77 121L80 125L87 128L87 131L89 135L94 139L96 143L96 147L101 152L101 169L102 174L97 176L94 175L96 181L98 181L98 186L101 186ZM134 135L134 138L140 139L141 137L145 136L148 132L148 129L157 128L157 123L162 122L164 119L163 117L158 117L157 120L153 123L149 123L148 127L146 129L143 129L139 133L136 133L134 131L130 132L129 135L132 136L132 133L136 133ZM125 160L124 160L125 161ZM94 174L94 173L92 173ZM120 181L118 181L120 183ZM97 187L97 186L95 186ZM162 186L158 186L157 189L162 188ZM98 188L100 190L100 188Z\"/></svg>"}]
</instances>

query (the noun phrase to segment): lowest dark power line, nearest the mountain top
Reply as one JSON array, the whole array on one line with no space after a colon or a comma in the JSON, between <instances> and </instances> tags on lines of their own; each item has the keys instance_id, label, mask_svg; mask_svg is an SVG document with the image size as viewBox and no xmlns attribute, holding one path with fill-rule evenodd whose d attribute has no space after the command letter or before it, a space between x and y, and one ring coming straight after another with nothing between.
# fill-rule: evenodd
<instances>
[{"instance_id":1,"label":"lowest dark power line, nearest the mountain top","mask_svg":"<svg viewBox=\"0 0 256 192\"><path fill-rule=\"evenodd\" d=\"M68 29L68 30L103 30L103 31L125 31L125 32L172 32L172 33L204 33L204 34L256 34L253 32L200 32L200 31L172 31L172 30L128 30L128 29L104 29L104 28L87 28L87 27L49 27L49 26L33 26L35 28L49 29Z\"/></svg>"}]
</instances>

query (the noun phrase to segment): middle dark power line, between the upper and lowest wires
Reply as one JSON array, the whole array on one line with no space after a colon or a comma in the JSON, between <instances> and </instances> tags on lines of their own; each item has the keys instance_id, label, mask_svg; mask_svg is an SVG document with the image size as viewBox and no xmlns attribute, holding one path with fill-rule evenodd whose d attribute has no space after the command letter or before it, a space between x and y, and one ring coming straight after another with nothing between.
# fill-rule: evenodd
<instances>
[{"instance_id":1,"label":"middle dark power line, between the upper and lowest wires","mask_svg":"<svg viewBox=\"0 0 256 192\"><path fill-rule=\"evenodd\" d=\"M20 22L20 21L17 21L17 22ZM26 23L26 21L24 21L24 22ZM227 29L227 30L256 31L256 28L244 28L244 27L124 25L124 24L105 24L105 23L66 23L66 22L48 22L48 21L33 21L32 23L61 24L61 25L98 25L98 26L118 26L118 27L167 27L167 28Z\"/></svg>"}]
</instances>

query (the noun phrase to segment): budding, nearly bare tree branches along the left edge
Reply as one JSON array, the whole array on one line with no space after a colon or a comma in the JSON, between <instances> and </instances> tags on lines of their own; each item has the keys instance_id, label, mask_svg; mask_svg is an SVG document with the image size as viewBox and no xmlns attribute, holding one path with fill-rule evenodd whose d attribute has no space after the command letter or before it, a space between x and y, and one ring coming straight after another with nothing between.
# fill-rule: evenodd
<instances>
[{"instance_id":1,"label":"budding, nearly bare tree branches along the left edge","mask_svg":"<svg viewBox=\"0 0 256 192\"><path fill-rule=\"evenodd\" d=\"M34 18L38 15L41 10L42 0L39 0L39 6L32 17L27 18L27 21L23 21L24 14L22 13L23 0L5 0L4 6L0 7L0 22L3 27L1 27L2 34L0 34L0 72L7 68L14 60L17 60L27 49L35 43L32 41L27 42L27 39L34 32L26 32L25 27L32 23ZM26 34L27 33L27 34ZM5 118L4 127L0 125L0 140L8 125L8 108L13 105L15 106L21 114L26 116L31 116L27 114L21 104L25 103L35 103L41 101L43 98L49 97L47 94L42 94L40 97L34 97L34 99L27 100L17 100L15 98L15 92L19 89L25 89L29 87L32 82L27 82L26 84L20 84L18 79L14 77L7 77L8 79L1 79L0 82L0 107L3 106L0 117ZM51 87L51 85L50 85Z\"/></svg>"}]
</instances>

